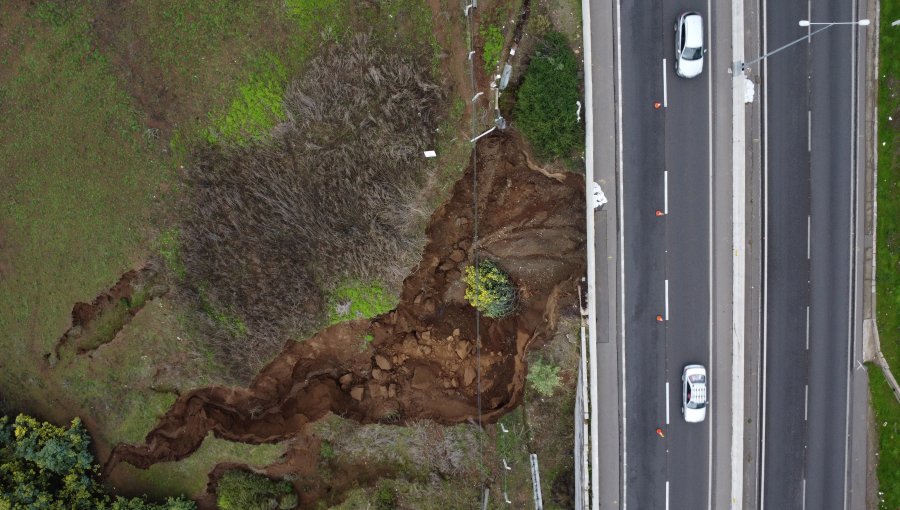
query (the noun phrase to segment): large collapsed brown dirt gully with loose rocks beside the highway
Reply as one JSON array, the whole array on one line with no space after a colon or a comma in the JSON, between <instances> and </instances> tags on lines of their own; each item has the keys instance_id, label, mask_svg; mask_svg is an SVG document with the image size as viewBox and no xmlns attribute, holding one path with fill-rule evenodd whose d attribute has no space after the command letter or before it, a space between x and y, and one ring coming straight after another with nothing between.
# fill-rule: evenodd
<instances>
[{"instance_id":1,"label":"large collapsed brown dirt gully with loose rocks beside the highway","mask_svg":"<svg viewBox=\"0 0 900 510\"><path fill-rule=\"evenodd\" d=\"M147 468L182 459L210 430L254 444L300 439L328 412L360 423L477 419L475 314L461 280L473 260L472 175L470 166L432 216L422 260L395 310L289 342L248 388L182 395L144 444L118 445L104 471L121 461ZM479 257L497 261L521 289L517 315L481 318L482 418L492 423L521 401L526 351L552 335L560 306L576 299L584 270L583 178L534 171L517 139L498 135L479 142L477 181ZM366 334L374 337L370 348ZM298 444L286 462L314 470L309 456L318 449Z\"/></svg>"}]
</instances>

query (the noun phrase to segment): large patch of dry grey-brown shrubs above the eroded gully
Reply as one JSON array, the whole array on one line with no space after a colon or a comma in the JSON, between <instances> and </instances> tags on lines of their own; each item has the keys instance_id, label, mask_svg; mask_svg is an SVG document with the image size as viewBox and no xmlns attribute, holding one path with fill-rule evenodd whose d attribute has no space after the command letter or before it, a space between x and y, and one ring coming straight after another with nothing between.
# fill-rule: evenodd
<instances>
[{"instance_id":1,"label":"large patch of dry grey-brown shrubs above the eroded gully","mask_svg":"<svg viewBox=\"0 0 900 510\"><path fill-rule=\"evenodd\" d=\"M311 332L343 279L399 290L424 244L422 152L441 99L427 66L358 36L288 86L269 141L195 155L187 283L213 318L239 319L211 335L229 366L253 373L288 335Z\"/></svg>"}]
</instances>

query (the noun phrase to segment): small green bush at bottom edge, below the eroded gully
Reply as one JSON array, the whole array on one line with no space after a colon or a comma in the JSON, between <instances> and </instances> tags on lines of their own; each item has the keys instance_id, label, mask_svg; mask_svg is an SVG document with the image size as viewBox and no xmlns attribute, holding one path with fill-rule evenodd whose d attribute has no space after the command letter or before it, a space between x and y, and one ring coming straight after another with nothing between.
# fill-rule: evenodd
<instances>
[{"instance_id":1,"label":"small green bush at bottom edge, below the eroded gully","mask_svg":"<svg viewBox=\"0 0 900 510\"><path fill-rule=\"evenodd\" d=\"M296 506L297 494L290 482L234 469L216 484L216 503L220 510L289 509Z\"/></svg>"}]
</instances>

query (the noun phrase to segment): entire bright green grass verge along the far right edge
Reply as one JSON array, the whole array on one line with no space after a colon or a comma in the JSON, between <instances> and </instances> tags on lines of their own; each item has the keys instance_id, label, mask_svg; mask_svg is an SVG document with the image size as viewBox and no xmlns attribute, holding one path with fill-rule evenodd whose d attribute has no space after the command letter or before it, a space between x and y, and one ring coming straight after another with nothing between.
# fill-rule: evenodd
<instances>
[{"instance_id":1,"label":"entire bright green grass verge along the far right edge","mask_svg":"<svg viewBox=\"0 0 900 510\"><path fill-rule=\"evenodd\" d=\"M900 374L900 4L881 3L878 70L878 232L876 242L877 323L881 350ZM869 370L876 430L881 508L900 508L900 404L881 371Z\"/></svg>"}]
</instances>

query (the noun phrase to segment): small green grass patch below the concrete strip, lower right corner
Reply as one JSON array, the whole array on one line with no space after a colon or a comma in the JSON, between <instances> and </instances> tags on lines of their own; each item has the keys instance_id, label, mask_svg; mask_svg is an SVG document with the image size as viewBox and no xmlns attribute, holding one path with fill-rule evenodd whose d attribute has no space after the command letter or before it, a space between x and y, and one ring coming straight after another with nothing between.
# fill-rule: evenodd
<instances>
[{"instance_id":1,"label":"small green grass patch below the concrete strip, lower right corner","mask_svg":"<svg viewBox=\"0 0 900 510\"><path fill-rule=\"evenodd\" d=\"M878 435L879 508L900 508L900 403L877 365L869 364L869 389L875 408L875 432Z\"/></svg>"}]
</instances>

